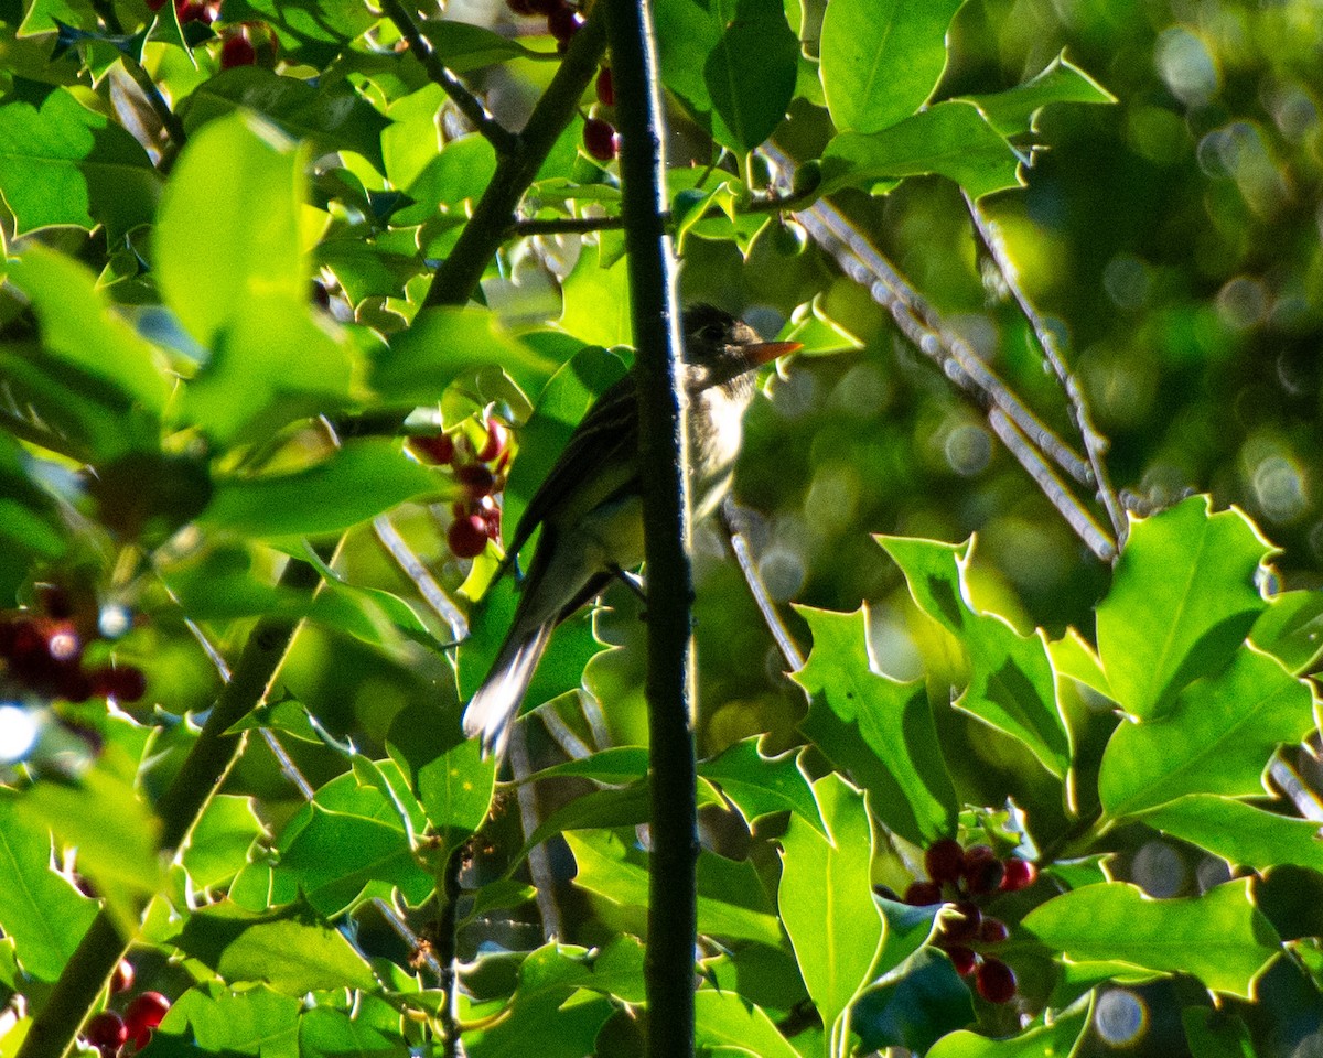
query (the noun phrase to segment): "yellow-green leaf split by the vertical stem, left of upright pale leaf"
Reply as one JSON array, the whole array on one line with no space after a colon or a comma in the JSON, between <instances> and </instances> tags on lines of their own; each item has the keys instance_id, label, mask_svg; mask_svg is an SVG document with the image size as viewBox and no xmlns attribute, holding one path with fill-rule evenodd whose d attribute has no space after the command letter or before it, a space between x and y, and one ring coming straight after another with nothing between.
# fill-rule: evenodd
<instances>
[{"instance_id":1,"label":"yellow-green leaf split by the vertical stem, left of upright pale leaf","mask_svg":"<svg viewBox=\"0 0 1323 1058\"><path fill-rule=\"evenodd\" d=\"M569 832L578 864L574 883L623 907L648 906L648 856L611 832ZM699 932L762 944L781 943L781 923L749 862L699 853Z\"/></svg>"}]
</instances>

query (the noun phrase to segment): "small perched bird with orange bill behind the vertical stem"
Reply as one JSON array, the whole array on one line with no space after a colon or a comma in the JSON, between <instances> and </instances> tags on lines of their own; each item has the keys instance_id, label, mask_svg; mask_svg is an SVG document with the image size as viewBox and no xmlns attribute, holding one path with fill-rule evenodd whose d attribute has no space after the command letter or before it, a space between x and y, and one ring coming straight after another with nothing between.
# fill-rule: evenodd
<instances>
[{"instance_id":1,"label":"small perched bird with orange bill behind the vertical stem","mask_svg":"<svg viewBox=\"0 0 1323 1058\"><path fill-rule=\"evenodd\" d=\"M684 389L689 402L689 460L695 520L730 488L753 401L754 369L799 348L762 341L753 328L712 305L684 319ZM501 755L552 630L599 595L614 577L643 562L639 417L632 376L598 398L570 435L515 529L516 555L542 526L520 586L511 630L483 685L464 710L464 734Z\"/></svg>"}]
</instances>

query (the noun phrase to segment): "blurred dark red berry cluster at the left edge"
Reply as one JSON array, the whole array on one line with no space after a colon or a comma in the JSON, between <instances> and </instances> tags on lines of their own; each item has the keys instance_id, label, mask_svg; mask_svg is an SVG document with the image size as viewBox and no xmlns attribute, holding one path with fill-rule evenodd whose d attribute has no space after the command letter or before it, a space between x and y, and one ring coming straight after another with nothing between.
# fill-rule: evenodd
<instances>
[{"instance_id":1,"label":"blurred dark red berry cluster at the left edge","mask_svg":"<svg viewBox=\"0 0 1323 1058\"><path fill-rule=\"evenodd\" d=\"M0 614L5 676L36 694L70 702L93 696L136 702L147 693L147 677L134 665L83 664L83 644L98 632L93 618L75 612L69 592L44 585L37 600L40 611Z\"/></svg>"}]
</instances>

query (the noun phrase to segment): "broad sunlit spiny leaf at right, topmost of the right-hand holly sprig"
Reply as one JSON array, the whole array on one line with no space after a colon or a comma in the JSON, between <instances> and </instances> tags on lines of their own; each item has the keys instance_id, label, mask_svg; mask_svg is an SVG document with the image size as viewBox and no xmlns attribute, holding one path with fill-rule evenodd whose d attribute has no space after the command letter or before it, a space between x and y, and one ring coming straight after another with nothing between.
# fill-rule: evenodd
<instances>
[{"instance_id":1,"label":"broad sunlit spiny leaf at right, topmost of the right-hand holly sprig","mask_svg":"<svg viewBox=\"0 0 1323 1058\"><path fill-rule=\"evenodd\" d=\"M1160 715L1183 686L1230 661L1267 606L1254 575L1271 551L1245 514L1213 514L1207 496L1132 520L1098 604L1098 655L1122 709Z\"/></svg>"}]
</instances>

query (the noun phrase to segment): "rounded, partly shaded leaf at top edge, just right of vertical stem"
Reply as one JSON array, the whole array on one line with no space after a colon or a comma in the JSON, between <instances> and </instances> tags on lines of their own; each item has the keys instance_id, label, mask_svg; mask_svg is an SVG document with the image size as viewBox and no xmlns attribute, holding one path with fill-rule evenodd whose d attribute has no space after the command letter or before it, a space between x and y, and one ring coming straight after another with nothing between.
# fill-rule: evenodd
<instances>
[{"instance_id":1,"label":"rounded, partly shaded leaf at top edge, just right of vertical stem","mask_svg":"<svg viewBox=\"0 0 1323 1058\"><path fill-rule=\"evenodd\" d=\"M747 153L781 124L799 41L781 0L659 0L662 81L722 147Z\"/></svg>"}]
</instances>

